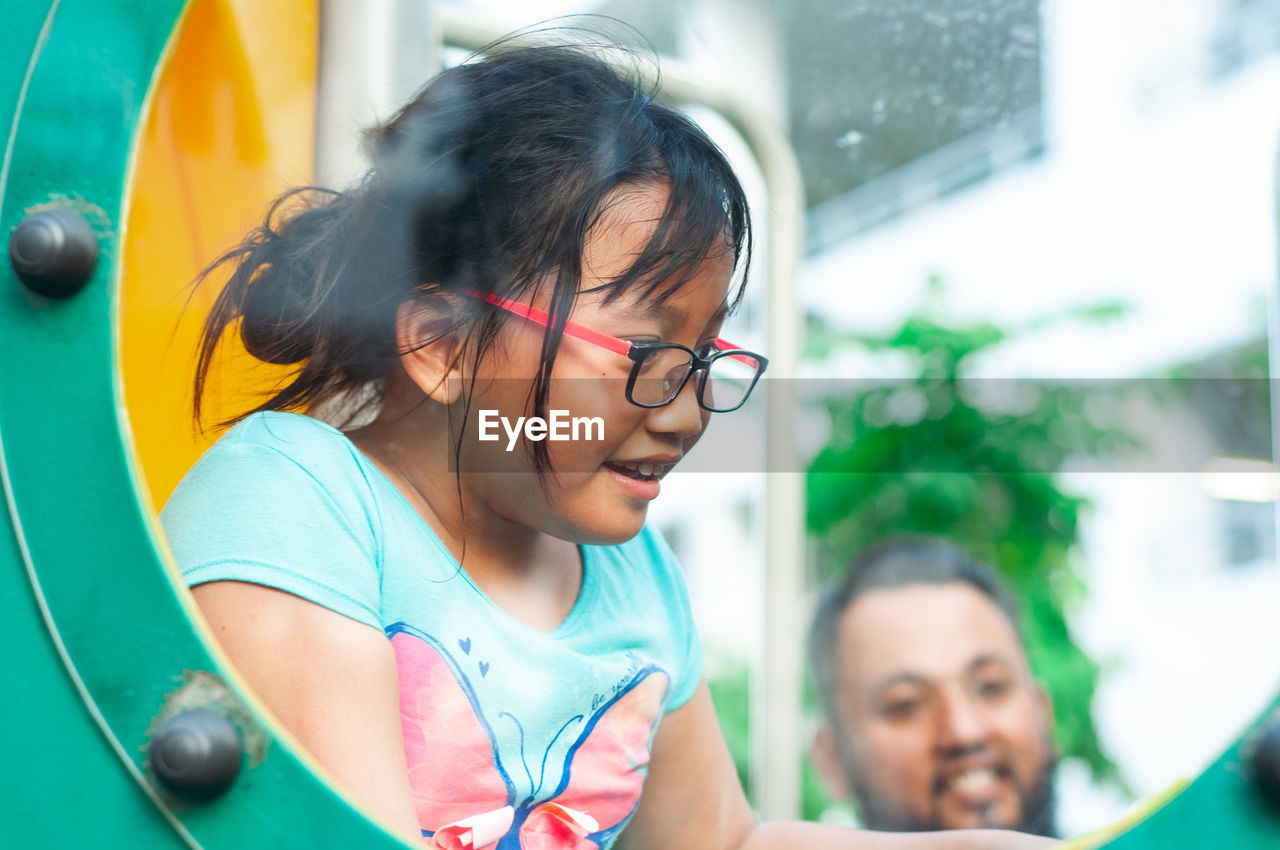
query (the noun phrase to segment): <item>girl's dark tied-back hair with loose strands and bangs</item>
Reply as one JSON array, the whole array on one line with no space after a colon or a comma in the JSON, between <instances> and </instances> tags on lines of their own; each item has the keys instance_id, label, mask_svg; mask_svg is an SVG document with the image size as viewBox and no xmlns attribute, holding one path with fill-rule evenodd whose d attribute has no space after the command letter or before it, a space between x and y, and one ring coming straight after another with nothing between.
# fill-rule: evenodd
<instances>
[{"instance_id":1,"label":"girl's dark tied-back hair with loose strands and bangs","mask_svg":"<svg viewBox=\"0 0 1280 850\"><path fill-rule=\"evenodd\" d=\"M607 61L605 49L628 61ZM648 60L616 45L506 41L485 52L435 77L369 133L372 165L356 187L287 192L205 270L201 279L232 269L201 338L197 424L219 341L237 321L250 353L298 369L224 425L352 390L365 390L357 412L367 412L401 353L398 307L471 291L547 297L552 321L531 388L541 408L580 293L588 232L626 186L662 182L667 206L631 266L593 291L607 302L623 293L663 300L703 260L730 251L739 273L730 307L737 305L751 252L746 196L707 134L654 101L657 82L641 82ZM502 325L518 321L479 300L449 303L440 335L474 342L476 364ZM535 452L545 463L545 447Z\"/></svg>"}]
</instances>

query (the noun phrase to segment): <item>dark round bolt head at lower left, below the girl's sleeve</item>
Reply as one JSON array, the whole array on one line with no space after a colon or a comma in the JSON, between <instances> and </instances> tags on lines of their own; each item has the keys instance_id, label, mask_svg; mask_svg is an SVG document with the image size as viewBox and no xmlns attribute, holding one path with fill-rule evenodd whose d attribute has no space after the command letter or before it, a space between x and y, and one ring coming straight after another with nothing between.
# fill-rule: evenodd
<instances>
[{"instance_id":1,"label":"dark round bolt head at lower left, below the girl's sleeve","mask_svg":"<svg viewBox=\"0 0 1280 850\"><path fill-rule=\"evenodd\" d=\"M236 781L244 748L225 714L193 708L160 726L150 754L161 785L179 796L211 800Z\"/></svg>"}]
</instances>

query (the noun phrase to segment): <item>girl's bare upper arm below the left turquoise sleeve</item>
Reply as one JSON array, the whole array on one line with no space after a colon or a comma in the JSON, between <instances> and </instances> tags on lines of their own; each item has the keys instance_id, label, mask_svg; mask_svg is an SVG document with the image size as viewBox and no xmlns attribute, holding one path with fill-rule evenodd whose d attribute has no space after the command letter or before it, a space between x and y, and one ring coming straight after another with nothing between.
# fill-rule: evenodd
<instances>
[{"instance_id":1,"label":"girl's bare upper arm below the left turquoise sleeve","mask_svg":"<svg viewBox=\"0 0 1280 850\"><path fill-rule=\"evenodd\" d=\"M236 670L333 781L390 828L420 836L387 636L262 585L211 581L192 595Z\"/></svg>"}]
</instances>

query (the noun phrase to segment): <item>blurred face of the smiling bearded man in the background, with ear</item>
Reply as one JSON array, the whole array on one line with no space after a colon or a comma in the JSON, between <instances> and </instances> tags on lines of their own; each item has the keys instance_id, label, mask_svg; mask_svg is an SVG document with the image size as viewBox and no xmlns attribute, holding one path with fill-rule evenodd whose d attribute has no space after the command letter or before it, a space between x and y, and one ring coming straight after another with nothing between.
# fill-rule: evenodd
<instances>
[{"instance_id":1,"label":"blurred face of the smiling bearded man in the background, with ear","mask_svg":"<svg viewBox=\"0 0 1280 850\"><path fill-rule=\"evenodd\" d=\"M1052 828L1048 699L984 594L868 591L845 611L835 657L844 728L826 728L814 757L867 827Z\"/></svg>"}]
</instances>

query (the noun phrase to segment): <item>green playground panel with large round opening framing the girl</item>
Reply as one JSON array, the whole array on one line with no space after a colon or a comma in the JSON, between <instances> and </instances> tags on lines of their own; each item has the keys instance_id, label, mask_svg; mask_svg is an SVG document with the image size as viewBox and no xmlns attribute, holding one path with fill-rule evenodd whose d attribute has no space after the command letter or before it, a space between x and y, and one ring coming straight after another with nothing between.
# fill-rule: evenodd
<instances>
[{"instance_id":1,"label":"green playground panel with large round opening framing the girl","mask_svg":"<svg viewBox=\"0 0 1280 850\"><path fill-rule=\"evenodd\" d=\"M118 367L120 223L140 124L182 0L18 0L0 22L0 228L82 214L99 259L64 300L0 270L0 617L8 661L0 844L15 847L403 847L317 778L192 625L140 483ZM210 705L243 741L232 787L165 791L157 725ZM1263 719L1199 778L1108 832L1117 850L1280 847L1253 786ZM1176 745L1176 742L1171 742ZM1082 840L1101 846L1107 837Z\"/></svg>"}]
</instances>

